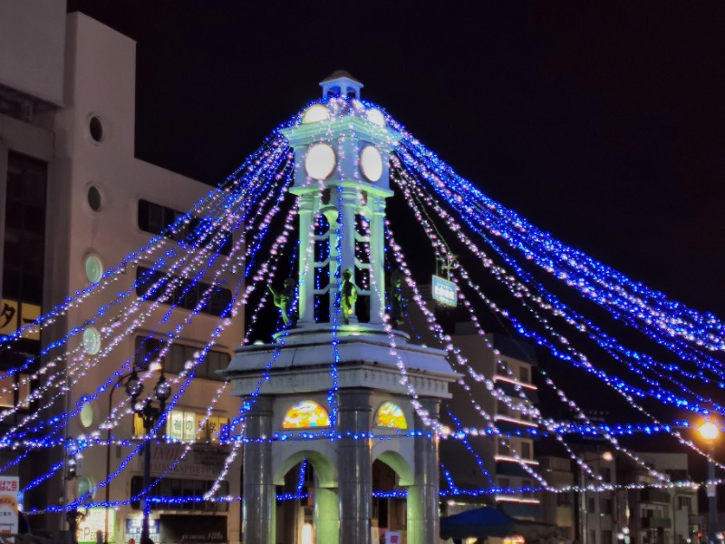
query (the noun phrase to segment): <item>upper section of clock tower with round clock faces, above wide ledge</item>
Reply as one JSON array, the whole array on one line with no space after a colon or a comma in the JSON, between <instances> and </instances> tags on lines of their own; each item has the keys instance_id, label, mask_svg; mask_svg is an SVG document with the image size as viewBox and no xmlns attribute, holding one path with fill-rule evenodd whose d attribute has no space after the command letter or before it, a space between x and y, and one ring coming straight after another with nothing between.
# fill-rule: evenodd
<instances>
[{"instance_id":1,"label":"upper section of clock tower with round clock faces, above wide ledge","mask_svg":"<svg viewBox=\"0 0 725 544\"><path fill-rule=\"evenodd\" d=\"M349 318L340 310L349 271L363 303L357 307L367 310L370 328L381 328L388 165L400 135L358 100L362 83L350 74L333 73L321 85L328 100L283 131L295 149L291 192L300 196L298 326L358 324L355 307Z\"/></svg>"}]
</instances>

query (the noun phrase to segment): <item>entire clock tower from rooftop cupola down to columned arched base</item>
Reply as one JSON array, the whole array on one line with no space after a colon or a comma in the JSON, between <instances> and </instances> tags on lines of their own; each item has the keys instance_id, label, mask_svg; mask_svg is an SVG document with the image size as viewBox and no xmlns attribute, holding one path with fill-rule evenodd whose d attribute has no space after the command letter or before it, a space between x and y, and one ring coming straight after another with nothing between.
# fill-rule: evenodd
<instances>
[{"instance_id":1,"label":"entire clock tower from rooftop cupola down to columned arched base","mask_svg":"<svg viewBox=\"0 0 725 544\"><path fill-rule=\"evenodd\" d=\"M398 530L409 544L435 544L438 414L458 374L444 351L411 345L383 322L388 165L400 135L360 101L350 74L321 85L324 100L283 131L299 198L299 320L271 344L237 347L221 371L244 398L244 542L299 544L306 527L316 543L373 544L380 461L404 500ZM301 462L314 469L303 528L297 499L275 498Z\"/></svg>"}]
</instances>

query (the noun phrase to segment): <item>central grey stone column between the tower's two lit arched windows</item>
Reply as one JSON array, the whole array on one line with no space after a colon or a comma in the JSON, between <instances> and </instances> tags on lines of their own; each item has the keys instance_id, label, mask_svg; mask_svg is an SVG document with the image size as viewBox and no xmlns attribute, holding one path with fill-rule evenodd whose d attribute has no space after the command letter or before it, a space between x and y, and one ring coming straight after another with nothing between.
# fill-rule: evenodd
<instances>
[{"instance_id":1,"label":"central grey stone column between the tower's two lit arched windows","mask_svg":"<svg viewBox=\"0 0 725 544\"><path fill-rule=\"evenodd\" d=\"M338 505L340 542L370 544L372 461L369 389L341 389L338 398Z\"/></svg>"}]
</instances>

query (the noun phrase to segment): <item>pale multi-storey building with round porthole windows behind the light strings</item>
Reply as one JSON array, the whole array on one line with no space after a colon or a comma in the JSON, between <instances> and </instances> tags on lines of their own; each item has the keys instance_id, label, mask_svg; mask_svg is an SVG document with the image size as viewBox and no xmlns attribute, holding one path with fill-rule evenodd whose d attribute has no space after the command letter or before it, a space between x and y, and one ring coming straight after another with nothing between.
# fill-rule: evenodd
<instances>
[{"instance_id":1,"label":"pale multi-storey building with round porthole windows behind the light strings","mask_svg":"<svg viewBox=\"0 0 725 544\"><path fill-rule=\"evenodd\" d=\"M63 302L68 294L98 281L104 270L146 246L150 238L159 235L171 220L211 189L134 157L135 59L136 44L130 38L86 15L66 15L64 2L0 0L0 202L6 203L0 206L0 240L4 240L0 245L0 334L14 332L27 320ZM179 251L172 239L166 247ZM138 267L126 267L107 291L132 289L143 265L141 262ZM208 284L210 277L208 274L202 281ZM220 310L230 297L224 289L218 288L213 301L177 335L163 363L169 380L208 343ZM138 290L131 294L135 300ZM75 376L69 378L74 384L64 406L55 407L56 412L67 411L84 395L98 393L98 398L86 404L66 426L66 436L77 437L99 429L109 413L111 389L108 386L99 393L99 384L114 372L121 375L119 369L124 361L143 364L144 357L160 348L159 339L171 332L172 324L191 316L193 298L180 302L168 323L161 323L161 317L170 306L160 305L146 322L151 325L141 325L84 377L77 381ZM52 332L43 331L40 339L24 339L13 349L4 350L0 364L8 368L22 363L25 354L37 355L42 344L86 324L100 304L102 296L73 308ZM143 308L150 308L150 303L144 303ZM87 344L79 353L90 358L93 351L106 347L110 337L102 337L92 326L86 329ZM199 367L198 377L170 413L167 436L179 442L192 439L183 429L197 429L200 414L206 413L209 399L217 395L222 384L214 370L226 367L232 349L241 344L243 330L238 320L219 337L207 361ZM80 342L78 336L73 337L67 349L78 347ZM3 386L13 382L19 386L17 391L2 395L5 407L22 403L31 388L41 385L38 380L26 384L27 376L36 369L37 365L24 374L5 378ZM152 385L147 384L147 389ZM178 393L178 387L174 393ZM122 389L115 391L113 404L125 396ZM228 446L216 443L219 426L236 417L238 410L238 399L226 392L220 395L208 420L206 436L198 439L176 470L167 474L158 494L200 495L208 489L227 457ZM28 411L6 419L5 428L24 413ZM134 431L139 431L138 423L134 429L129 415L112 433L117 439L128 439ZM154 444L151 476L167 471L183 448L183 443ZM62 459L62 450L54 448L50 457L47 451L38 452L29 458L32 462L22 462L8 471L21 477L21 486L27 485L53 461ZM129 452L130 447L121 445L92 447L78 460L75 478L56 475L26 493L24 503L39 507L67 503L104 481L108 471L117 471ZM12 454L3 457L12 458ZM140 489L141 461L136 456L121 477L111 482L111 502L128 500ZM239 482L237 463L228 472L219 494L238 496ZM93 500L105 501L105 490L100 488ZM109 541L138 540L133 520L139 517L140 511L131 506L111 510ZM152 518L159 520L151 524L151 537L156 541L165 539L172 544L183 539L185 531L201 530L212 535L208 542L239 541L238 502L160 506L158 510L155 507ZM45 520L34 517L31 524L53 531L67 527L61 516ZM105 524L105 509L91 512L85 532L81 531L81 541L95 542L95 531L105 532Z\"/></svg>"}]
</instances>

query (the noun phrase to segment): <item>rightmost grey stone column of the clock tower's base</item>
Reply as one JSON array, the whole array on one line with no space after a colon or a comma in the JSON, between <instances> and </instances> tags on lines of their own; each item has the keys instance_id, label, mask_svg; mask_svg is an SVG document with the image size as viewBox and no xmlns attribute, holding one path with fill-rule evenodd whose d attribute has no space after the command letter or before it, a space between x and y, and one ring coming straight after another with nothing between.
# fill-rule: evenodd
<instances>
[{"instance_id":1,"label":"rightmost grey stone column of the clock tower's base","mask_svg":"<svg viewBox=\"0 0 725 544\"><path fill-rule=\"evenodd\" d=\"M421 398L420 404L430 417L438 419L440 399ZM430 427L423 424L418 414L414 428L423 434L413 438L415 469L414 483L408 488L408 544L437 544L440 533L438 438L430 435Z\"/></svg>"}]
</instances>

